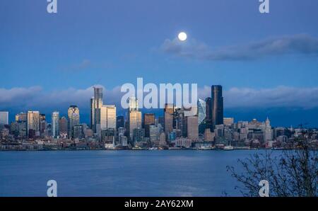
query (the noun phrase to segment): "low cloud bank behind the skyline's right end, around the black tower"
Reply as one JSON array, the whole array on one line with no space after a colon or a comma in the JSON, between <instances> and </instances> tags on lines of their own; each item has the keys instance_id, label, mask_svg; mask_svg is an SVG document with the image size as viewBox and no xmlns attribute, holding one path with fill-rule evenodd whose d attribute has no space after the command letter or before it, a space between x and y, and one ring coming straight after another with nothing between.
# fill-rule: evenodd
<instances>
[{"instance_id":1,"label":"low cloud bank behind the skyline's right end, around the black tower","mask_svg":"<svg viewBox=\"0 0 318 211\"><path fill-rule=\"evenodd\" d=\"M199 89L199 98L211 96L211 87ZM272 89L231 88L223 91L225 108L318 108L318 87L278 86Z\"/></svg>"}]
</instances>

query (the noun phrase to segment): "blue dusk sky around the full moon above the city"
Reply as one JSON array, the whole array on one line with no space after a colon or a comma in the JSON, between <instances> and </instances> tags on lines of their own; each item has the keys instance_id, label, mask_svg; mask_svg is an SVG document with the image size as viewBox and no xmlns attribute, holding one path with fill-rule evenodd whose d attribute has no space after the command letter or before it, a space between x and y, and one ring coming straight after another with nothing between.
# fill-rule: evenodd
<instances>
[{"instance_id":1,"label":"blue dusk sky around the full moon above the city","mask_svg":"<svg viewBox=\"0 0 318 211\"><path fill-rule=\"evenodd\" d=\"M45 112L62 110L71 102L54 93L68 98L69 90L93 84L111 93L141 76L145 83L221 84L228 96L233 88L249 89L242 98L251 90L254 96L266 93L258 104L248 98L252 108L249 101L237 105L240 115L235 103L225 114L248 120L257 113L270 115L276 125L307 121L318 126L318 99L309 94L318 93L318 1L271 0L269 14L259 13L258 0L57 1L56 14L47 13L45 0L1 1L0 110L37 109L25 103L37 93L63 101L43 102ZM175 45L180 31L189 38L181 47ZM264 90L281 86L290 89L288 101L271 105L271 92ZM295 89L304 93L293 100ZM16 97L6 96L12 93ZM111 97L106 95L105 103L114 102ZM300 98L310 106L300 105ZM88 103L83 107L87 110Z\"/></svg>"}]
</instances>

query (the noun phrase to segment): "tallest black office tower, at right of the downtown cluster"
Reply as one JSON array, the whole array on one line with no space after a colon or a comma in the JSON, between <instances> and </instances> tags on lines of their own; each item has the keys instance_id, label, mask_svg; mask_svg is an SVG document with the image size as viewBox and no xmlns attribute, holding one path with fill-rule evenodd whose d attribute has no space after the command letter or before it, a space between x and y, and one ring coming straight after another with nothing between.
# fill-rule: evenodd
<instances>
[{"instance_id":1,"label":"tallest black office tower, at right of the downtown cluster","mask_svg":"<svg viewBox=\"0 0 318 211\"><path fill-rule=\"evenodd\" d=\"M216 125L223 125L223 96L222 86L213 85L211 88L212 94L212 129Z\"/></svg>"}]
</instances>

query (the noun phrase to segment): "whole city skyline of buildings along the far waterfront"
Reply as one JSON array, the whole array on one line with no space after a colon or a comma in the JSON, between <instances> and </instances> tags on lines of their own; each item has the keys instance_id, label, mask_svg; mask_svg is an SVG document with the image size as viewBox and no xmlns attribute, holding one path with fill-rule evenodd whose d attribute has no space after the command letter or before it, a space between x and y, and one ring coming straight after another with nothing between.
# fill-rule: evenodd
<instances>
[{"instance_id":1,"label":"whole city skyline of buildings along the far waterfront","mask_svg":"<svg viewBox=\"0 0 318 211\"><path fill-rule=\"evenodd\" d=\"M38 110L18 113L8 122L8 112L1 111L1 149L287 149L303 132L317 142L317 129L307 124L273 127L269 117L263 122L224 117L220 85L212 85L211 96L198 99L192 108L165 103L164 115L158 118L155 113L142 114L138 98L128 100L125 120L117 115L116 105L104 104L102 87L94 86L90 125L80 121L77 105L69 106L67 118L53 111L51 122Z\"/></svg>"}]
</instances>

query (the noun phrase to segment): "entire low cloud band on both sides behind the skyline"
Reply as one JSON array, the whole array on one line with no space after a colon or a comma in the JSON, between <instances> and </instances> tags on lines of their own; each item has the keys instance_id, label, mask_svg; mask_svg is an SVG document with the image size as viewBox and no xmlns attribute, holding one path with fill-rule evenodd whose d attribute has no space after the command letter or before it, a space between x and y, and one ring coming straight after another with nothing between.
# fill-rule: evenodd
<instances>
[{"instance_id":1,"label":"entire low cloud band on both sides behind the skyline","mask_svg":"<svg viewBox=\"0 0 318 211\"><path fill-rule=\"evenodd\" d=\"M120 88L120 86L114 89L103 87L104 103L117 105L119 110L124 95ZM198 92L199 98L205 99L211 96L211 87L204 86L199 88ZM93 86L87 89L69 88L55 91L43 91L40 86L0 89L0 96L0 110L20 112L30 109L49 113L60 110L61 113L66 113L69 105L78 105L80 110L88 110L90 98L93 96ZM271 89L233 87L223 91L223 96L225 108L318 108L318 87L278 86Z\"/></svg>"}]
</instances>

